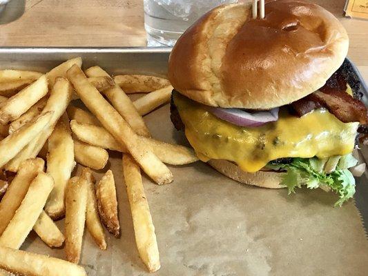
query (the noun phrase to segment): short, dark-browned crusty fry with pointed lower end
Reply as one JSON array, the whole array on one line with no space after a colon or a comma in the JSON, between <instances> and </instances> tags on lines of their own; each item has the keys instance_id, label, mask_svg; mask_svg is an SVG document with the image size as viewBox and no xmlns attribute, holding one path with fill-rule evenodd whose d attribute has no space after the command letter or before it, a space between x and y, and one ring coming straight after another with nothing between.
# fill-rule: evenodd
<instances>
[{"instance_id":1,"label":"short, dark-browned crusty fry with pointed lower end","mask_svg":"<svg viewBox=\"0 0 368 276\"><path fill-rule=\"evenodd\" d=\"M108 232L115 237L119 237L120 225L117 217L117 197L115 189L114 175L108 170L101 178L96 188L97 207L102 223Z\"/></svg>"}]
</instances>

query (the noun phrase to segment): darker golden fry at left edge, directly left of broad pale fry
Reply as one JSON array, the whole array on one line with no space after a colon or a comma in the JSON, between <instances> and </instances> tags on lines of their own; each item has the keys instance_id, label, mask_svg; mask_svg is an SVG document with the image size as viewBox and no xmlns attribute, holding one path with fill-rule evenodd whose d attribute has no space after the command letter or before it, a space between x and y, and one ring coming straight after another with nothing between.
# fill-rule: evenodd
<instances>
[{"instance_id":1,"label":"darker golden fry at left edge, directly left of broad pale fry","mask_svg":"<svg viewBox=\"0 0 368 276\"><path fill-rule=\"evenodd\" d=\"M21 164L21 168L0 201L0 236L21 205L30 183L43 170L43 166L45 161L41 158L28 159Z\"/></svg>"}]
</instances>

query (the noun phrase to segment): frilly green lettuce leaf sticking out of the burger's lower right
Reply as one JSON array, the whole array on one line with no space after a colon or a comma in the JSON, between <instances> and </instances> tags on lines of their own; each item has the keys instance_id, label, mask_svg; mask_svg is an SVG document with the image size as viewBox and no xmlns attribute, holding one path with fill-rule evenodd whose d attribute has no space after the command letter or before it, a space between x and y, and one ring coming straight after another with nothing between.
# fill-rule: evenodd
<instances>
[{"instance_id":1,"label":"frilly green lettuce leaf sticking out of the burger's lower right","mask_svg":"<svg viewBox=\"0 0 368 276\"><path fill-rule=\"evenodd\" d=\"M331 188L339 196L335 206L342 206L355 193L353 175L347 168L342 169L339 166L329 174L321 170L317 171L316 162L316 157L294 158L290 164L268 164L267 166L273 170L287 170L281 185L287 186L289 194L295 193L296 188L302 188L302 186L315 189L323 185Z\"/></svg>"}]
</instances>

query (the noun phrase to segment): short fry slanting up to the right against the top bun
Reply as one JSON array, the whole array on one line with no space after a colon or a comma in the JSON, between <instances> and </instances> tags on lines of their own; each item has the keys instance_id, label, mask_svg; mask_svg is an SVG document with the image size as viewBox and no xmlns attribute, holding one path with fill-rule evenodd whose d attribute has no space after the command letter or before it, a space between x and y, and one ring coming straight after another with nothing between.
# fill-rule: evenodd
<instances>
[{"instance_id":1,"label":"short fry slanting up to the right against the top bun","mask_svg":"<svg viewBox=\"0 0 368 276\"><path fill-rule=\"evenodd\" d=\"M171 98L171 91L173 91L173 86L166 86L155 90L135 100L133 102L134 106L137 108L139 114L144 116L162 104L168 103Z\"/></svg>"}]
</instances>

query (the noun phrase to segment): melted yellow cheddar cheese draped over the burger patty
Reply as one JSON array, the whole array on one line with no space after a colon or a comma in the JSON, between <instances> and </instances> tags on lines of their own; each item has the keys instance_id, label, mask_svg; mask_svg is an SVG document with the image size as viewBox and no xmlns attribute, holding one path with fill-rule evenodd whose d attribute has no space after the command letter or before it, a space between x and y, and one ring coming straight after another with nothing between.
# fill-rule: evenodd
<instances>
[{"instance_id":1,"label":"melted yellow cheddar cheese draped over the burger patty","mask_svg":"<svg viewBox=\"0 0 368 276\"><path fill-rule=\"evenodd\" d=\"M246 172L256 172L283 157L346 155L354 148L359 124L342 123L325 109L299 118L281 108L278 121L247 128L215 117L206 106L177 92L173 100L186 137L202 161L226 159Z\"/></svg>"}]
</instances>

